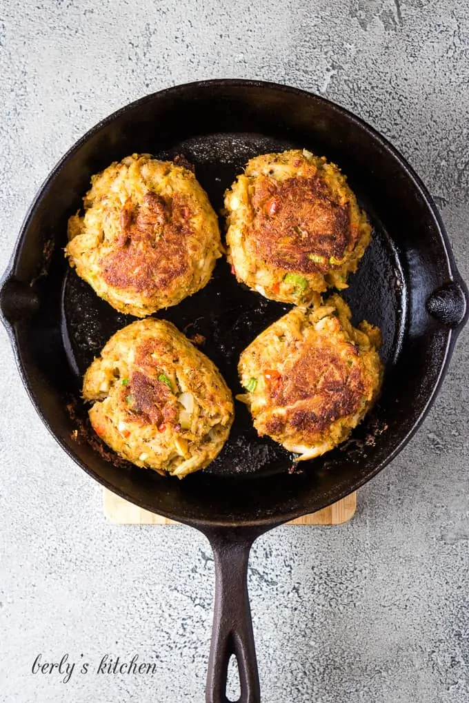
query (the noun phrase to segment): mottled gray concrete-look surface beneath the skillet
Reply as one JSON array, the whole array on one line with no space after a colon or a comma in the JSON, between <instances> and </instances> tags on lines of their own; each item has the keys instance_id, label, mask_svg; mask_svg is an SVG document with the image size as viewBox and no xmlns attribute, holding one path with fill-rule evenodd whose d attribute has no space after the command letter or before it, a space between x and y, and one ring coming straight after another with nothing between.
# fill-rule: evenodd
<instances>
[{"instance_id":1,"label":"mottled gray concrete-look surface beneath the skillet","mask_svg":"<svg viewBox=\"0 0 469 703\"><path fill-rule=\"evenodd\" d=\"M0 270L41 181L145 93L255 77L371 122L437 197L469 279L469 8L452 0L0 4ZM203 701L213 562L185 527L112 527L49 437L0 330L0 701ZM468 334L418 436L344 527L283 527L250 562L266 703L467 703ZM153 676L31 673L37 654ZM83 657L81 656L83 654ZM77 665L78 666L78 665Z\"/></svg>"}]
</instances>

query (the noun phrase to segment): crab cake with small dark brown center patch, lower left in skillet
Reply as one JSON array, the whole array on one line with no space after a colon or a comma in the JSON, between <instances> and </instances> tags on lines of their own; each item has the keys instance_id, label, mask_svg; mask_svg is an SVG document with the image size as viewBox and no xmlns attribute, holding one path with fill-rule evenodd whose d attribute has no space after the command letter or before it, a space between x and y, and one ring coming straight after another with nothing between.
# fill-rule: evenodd
<instances>
[{"instance_id":1,"label":"crab cake with small dark brown center patch, lower left in skillet","mask_svg":"<svg viewBox=\"0 0 469 703\"><path fill-rule=\"evenodd\" d=\"M155 318L110 338L84 375L95 432L138 466L182 478L217 456L233 422L219 370L172 323Z\"/></svg>"}]
</instances>

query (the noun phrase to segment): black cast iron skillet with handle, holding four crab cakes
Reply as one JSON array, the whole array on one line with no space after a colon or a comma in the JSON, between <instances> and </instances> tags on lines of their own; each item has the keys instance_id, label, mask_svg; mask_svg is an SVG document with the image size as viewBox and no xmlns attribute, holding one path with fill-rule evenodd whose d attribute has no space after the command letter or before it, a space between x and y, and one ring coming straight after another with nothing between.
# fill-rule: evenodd
<instances>
[{"instance_id":1,"label":"black cast iron skillet with handle, holding four crab cakes","mask_svg":"<svg viewBox=\"0 0 469 703\"><path fill-rule=\"evenodd\" d=\"M183 481L117 462L86 441L79 400L86 366L131 318L117 314L68 269L67 220L91 174L134 153L184 154L216 209L245 162L303 148L326 155L349 178L373 224L373 243L345 293L355 321L383 333L383 393L345 446L302 463L259 439L248 412L219 458ZM0 290L18 368L42 420L98 482L128 501L202 531L214 549L216 592L207 702L226 703L226 668L238 660L240 702L259 701L247 590L252 542L282 522L338 501L396 456L422 422L465 321L467 290L442 221L418 176L371 127L323 98L271 83L217 80L142 98L96 125L63 157L35 198ZM161 313L191 337L238 392L242 349L288 309L236 284L220 261L205 290ZM78 438L74 430L80 426ZM100 451L101 449L101 451Z\"/></svg>"}]
</instances>

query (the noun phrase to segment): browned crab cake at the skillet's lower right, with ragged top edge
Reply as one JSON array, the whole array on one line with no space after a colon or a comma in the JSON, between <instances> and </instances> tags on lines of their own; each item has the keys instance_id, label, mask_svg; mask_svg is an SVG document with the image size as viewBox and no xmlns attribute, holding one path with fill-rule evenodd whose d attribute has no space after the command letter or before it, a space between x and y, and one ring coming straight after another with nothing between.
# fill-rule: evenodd
<instances>
[{"instance_id":1,"label":"browned crab cake at the skillet's lower right, with ragged top edge","mask_svg":"<svg viewBox=\"0 0 469 703\"><path fill-rule=\"evenodd\" d=\"M380 330L350 323L339 295L293 308L241 354L240 379L260 435L311 459L347 439L378 395Z\"/></svg>"}]
</instances>

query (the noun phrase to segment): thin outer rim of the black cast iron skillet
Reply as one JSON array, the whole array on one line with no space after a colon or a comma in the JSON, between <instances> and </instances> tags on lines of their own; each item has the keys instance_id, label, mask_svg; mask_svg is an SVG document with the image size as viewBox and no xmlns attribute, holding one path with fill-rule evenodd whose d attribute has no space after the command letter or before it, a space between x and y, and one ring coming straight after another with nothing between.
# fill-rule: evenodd
<instances>
[{"instance_id":1,"label":"thin outer rim of the black cast iron skillet","mask_svg":"<svg viewBox=\"0 0 469 703\"><path fill-rule=\"evenodd\" d=\"M361 120L360 117L357 117L354 115L352 112L349 112L346 108L343 108L341 105L338 105L337 103L334 103L333 101L328 100L327 98L324 98L323 96L318 96L316 93L312 93L310 91L304 90L304 89L299 89L295 88L293 86L288 86L285 84L279 84L276 82L267 82L267 81L259 81L259 80L250 80L250 79L209 79L209 80L203 80L203 81L195 81L195 82L188 82L184 84L179 84L176 86L171 86L166 89L162 89L160 91L155 91L154 93L150 93L146 96L143 96L141 98L138 98L135 101L132 101L131 103L128 103L127 105L122 106L122 108L118 108L114 112L112 112L110 115L107 117L104 117L102 120L99 120L91 129L86 131L86 133L80 137L63 155L63 157L60 158L60 160L56 163L56 165L51 169L51 172L49 172L48 176L46 176L46 179L41 183L41 186L39 190L37 191L36 195L34 196L34 199L32 200L30 207L27 209L27 213L25 215L25 219L23 220L23 224L20 227L20 233L18 235L18 238L15 243L15 247L13 250L13 254L11 256L10 262L7 266L7 269L4 273L4 276L2 276L0 280L0 292L2 288L4 288L4 285L8 283L8 280L11 278L15 278L15 274L18 271L18 266L20 262L20 257L21 254L23 253L23 249L25 246L25 236L27 233L27 229L30 226L30 223L34 217L35 211L37 207L39 206L39 203L41 202L42 198L46 195L46 191L49 188L49 185L51 182L58 176L60 173L61 169L65 165L66 162L77 153L77 151L88 141L92 136L98 133L103 127L108 126L108 124L112 123L114 120L116 120L118 117L123 115L125 112L128 112L129 110L134 110L136 108L140 108L142 105L145 105L146 103L151 103L153 101L171 96L171 93L175 94L181 94L184 93L186 90L192 90L192 91L197 91L199 90L207 90L212 87L219 87L223 88L224 86L227 87L239 87L240 89L249 87L249 88L256 88L256 89L274 89L275 91L278 92L283 92L285 94L293 94L299 97L302 97L303 99L308 99L309 101L314 101L316 103L319 103L320 105L326 105L328 109L331 112L336 112L338 115L341 115L342 117L345 117L347 122L352 125L356 125L357 127L361 128L368 134L368 136L375 142L379 143L380 146L387 152L389 153L392 158L394 159L395 162L397 162L398 166L400 167L401 171L403 171L406 176L411 180L413 187L416 189L417 193L420 195L420 197L423 200L423 203L428 211L428 213L431 215L433 221L435 222L435 227L437 229L437 233L439 235L439 241L442 245L442 250L444 252L444 257L445 257L445 269L448 271L448 278L449 281L454 281L458 283L458 285L462 286L463 291L465 290L465 286L463 284L463 281L461 279L460 274L458 273L458 270L456 269L456 263L454 260L454 254L451 250L451 246L449 244L449 238L446 234L446 229L444 228L444 224L442 221L442 218L438 212L437 206L435 204L435 201L433 200L432 196L430 195L428 188L426 188L425 184L423 181L420 179L420 176L416 173L416 171L409 165L409 163L405 160L404 156L399 153L399 151L388 141L385 137L383 137L378 131L374 129L374 127L371 127L367 122L364 120ZM72 458L72 460L75 461L81 467L89 476L94 478L99 484L105 486L107 489L110 491L113 491L115 494L119 495L120 497L126 499L127 501L130 501L131 503L135 503L136 505L140 505L142 508L146 508L147 510L153 511L154 508L150 505L150 503L146 503L145 501L134 501L134 498L131 498L124 490L117 489L116 486L112 484L112 482L107 481L100 475L98 475L91 467L86 465L84 461L82 461L74 451L72 451L72 448L65 443L65 441L56 434L56 431L53 429L51 426L51 423L49 423L49 420L46 420L44 417L44 413L41 408L41 404L37 400L37 398L34 396L34 393L32 391L32 388L30 387L30 380L27 375L27 370L25 368L25 364L23 362L23 354L21 353L21 345L20 341L18 340L18 329L17 329L17 324L20 321L15 321L11 323L10 321L7 321L4 316L1 316L2 321L4 322L4 325L6 327L8 337L10 338L11 341L11 346L13 347L13 354L15 357L15 362L18 368L18 371L20 373L20 378L23 381L23 385L25 386L25 389L27 391L27 395L30 398L30 401L32 402L32 405L34 406L35 410L37 411L39 418L41 418L42 423L47 427L53 438L58 442L58 444L61 446L63 450ZM319 501L319 507L315 506L315 510L320 510L321 508L325 508L327 505L330 505L331 503L335 503L335 501L340 500L341 498L344 498L345 496L349 495L353 491L356 491L356 489L359 489L361 486L366 484L369 480L371 480L375 475L377 475L381 470L387 466L396 456L397 454L404 449L404 446L409 443L410 439L413 437L413 435L417 432L418 428L420 427L421 423L423 423L423 420L425 419L426 415L428 414L428 411L430 410L432 404L434 403L436 396L439 392L439 389L442 385L442 381L444 379L444 375L446 375L446 371L448 369L449 365L449 360L451 358L451 352L454 347L454 343L456 342L456 338L458 336L459 330L461 330L463 323L465 321L465 318L463 318L463 321L458 325L456 328L450 328L449 326L446 326L444 328L445 334L444 338L442 339L441 342L441 349L442 349L442 361L441 365L439 366L439 371L437 378L432 385L432 389L430 394L428 394L428 397L425 400L425 404L423 405L422 408L420 408L418 418L416 421L413 423L411 426L410 430L406 432L404 437L401 438L399 443L394 446L394 449L387 454L387 456L378 463L378 465L375 467L374 470L367 472L366 475L360 477L359 479L356 479L355 482L353 482L352 486L348 483L345 487L342 487L342 489L339 489L338 491L334 492L333 498L326 498L324 496L323 501ZM340 484L339 484L340 485ZM246 526L246 527L274 527L276 524L281 524L282 522L287 522L288 520L293 520L296 517L300 517L301 515L307 514L307 512L310 512L307 510L307 508L297 508L295 510L289 510L287 512L281 512L278 514L278 510L274 511L274 515L270 517L255 517L252 518L252 520L206 520L206 519L197 519L197 518L184 518L180 517L179 515L175 515L174 513L169 513L169 512L164 512L164 511L159 511L161 512L162 515L165 515L165 517L172 517L174 520L177 520L178 522L184 522L186 524L191 524L193 527L199 527L199 529L204 529L210 527L238 527L240 525Z\"/></svg>"}]
</instances>

